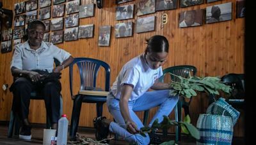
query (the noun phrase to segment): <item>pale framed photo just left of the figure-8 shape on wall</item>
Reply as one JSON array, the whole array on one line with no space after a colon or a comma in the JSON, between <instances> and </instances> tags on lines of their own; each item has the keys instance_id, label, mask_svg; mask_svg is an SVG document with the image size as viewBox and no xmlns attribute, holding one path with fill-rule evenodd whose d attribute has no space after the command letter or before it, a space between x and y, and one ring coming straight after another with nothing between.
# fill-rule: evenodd
<instances>
[{"instance_id":1,"label":"pale framed photo just left of the figure-8 shape on wall","mask_svg":"<svg viewBox=\"0 0 256 145\"><path fill-rule=\"evenodd\" d=\"M136 20L136 33L155 30L155 16L138 18Z\"/></svg>"}]
</instances>

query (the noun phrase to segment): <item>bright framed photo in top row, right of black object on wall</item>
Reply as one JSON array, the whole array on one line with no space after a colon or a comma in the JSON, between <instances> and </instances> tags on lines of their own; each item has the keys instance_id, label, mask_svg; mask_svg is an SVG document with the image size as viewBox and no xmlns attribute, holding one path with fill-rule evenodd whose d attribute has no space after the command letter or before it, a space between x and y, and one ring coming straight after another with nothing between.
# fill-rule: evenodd
<instances>
[{"instance_id":1,"label":"bright framed photo in top row, right of black object on wall","mask_svg":"<svg viewBox=\"0 0 256 145\"><path fill-rule=\"evenodd\" d=\"M133 18L134 4L116 7L116 20Z\"/></svg>"}]
</instances>

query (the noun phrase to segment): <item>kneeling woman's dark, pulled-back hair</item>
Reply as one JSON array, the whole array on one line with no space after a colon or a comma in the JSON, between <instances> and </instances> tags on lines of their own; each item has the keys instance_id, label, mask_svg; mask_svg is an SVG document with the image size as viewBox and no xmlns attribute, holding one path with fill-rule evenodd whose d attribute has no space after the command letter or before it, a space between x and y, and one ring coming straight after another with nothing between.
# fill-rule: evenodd
<instances>
[{"instance_id":1,"label":"kneeling woman's dark, pulled-back hair","mask_svg":"<svg viewBox=\"0 0 256 145\"><path fill-rule=\"evenodd\" d=\"M168 40L161 35L155 35L147 39L147 52L169 52L169 43Z\"/></svg>"}]
</instances>

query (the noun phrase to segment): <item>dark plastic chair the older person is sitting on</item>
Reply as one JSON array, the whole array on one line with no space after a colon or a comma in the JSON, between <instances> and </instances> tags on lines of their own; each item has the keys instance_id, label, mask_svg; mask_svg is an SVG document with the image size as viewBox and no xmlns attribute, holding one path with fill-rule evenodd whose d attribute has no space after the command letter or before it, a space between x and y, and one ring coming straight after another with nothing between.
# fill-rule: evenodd
<instances>
[{"instance_id":1,"label":"dark plastic chair the older person is sitting on","mask_svg":"<svg viewBox=\"0 0 256 145\"><path fill-rule=\"evenodd\" d=\"M54 64L55 66L59 66L60 62L57 59L54 59ZM40 93L31 92L30 99L44 100L44 97ZM60 117L61 117L62 111L63 111L63 100L62 100L62 96L60 95ZM46 127L47 128L51 127L51 120L50 120L49 114L47 114L47 117L46 117ZM7 134L8 137L13 136L13 128L15 129L14 135L19 135L19 130L20 130L19 115L15 113L15 111L11 110L10 122L8 127L8 134Z\"/></svg>"}]
</instances>

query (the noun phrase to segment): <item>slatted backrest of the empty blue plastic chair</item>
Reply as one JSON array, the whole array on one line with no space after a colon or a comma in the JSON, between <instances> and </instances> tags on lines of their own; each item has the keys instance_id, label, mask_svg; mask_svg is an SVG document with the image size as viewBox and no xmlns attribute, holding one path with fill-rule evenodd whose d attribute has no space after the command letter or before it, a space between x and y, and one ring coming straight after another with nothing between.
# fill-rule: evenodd
<instances>
[{"instance_id":1,"label":"slatted backrest of the empty blue plastic chair","mask_svg":"<svg viewBox=\"0 0 256 145\"><path fill-rule=\"evenodd\" d=\"M74 58L73 62L69 66L69 81L70 81L70 93L73 96L72 79L73 79L73 67L77 65L80 75L80 90L85 90L86 86L96 87L97 74L100 67L105 69L105 90L109 91L110 85L110 67L106 62L97 59L90 58Z\"/></svg>"}]
</instances>

